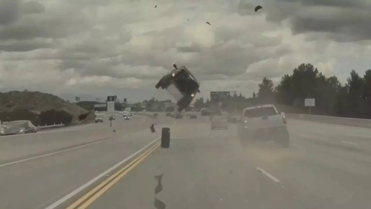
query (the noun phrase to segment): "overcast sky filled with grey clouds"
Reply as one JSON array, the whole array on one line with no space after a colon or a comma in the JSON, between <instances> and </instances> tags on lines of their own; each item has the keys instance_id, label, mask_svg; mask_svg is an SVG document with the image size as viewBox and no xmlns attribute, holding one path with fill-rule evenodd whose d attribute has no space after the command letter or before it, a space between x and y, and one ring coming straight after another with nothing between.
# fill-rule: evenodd
<instances>
[{"instance_id":1,"label":"overcast sky filled with grey clouds","mask_svg":"<svg viewBox=\"0 0 371 209\"><path fill-rule=\"evenodd\" d=\"M0 91L170 99L154 85L173 63L200 80L203 97L251 96L264 76L277 83L303 62L344 83L371 68L370 9L370 0L0 0Z\"/></svg>"}]
</instances>

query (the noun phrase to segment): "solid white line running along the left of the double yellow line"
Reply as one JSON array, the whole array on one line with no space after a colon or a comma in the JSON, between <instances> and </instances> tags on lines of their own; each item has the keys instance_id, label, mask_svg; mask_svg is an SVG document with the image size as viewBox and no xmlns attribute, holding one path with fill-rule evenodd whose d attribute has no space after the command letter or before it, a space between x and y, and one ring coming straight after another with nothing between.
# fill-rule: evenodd
<instances>
[{"instance_id":1,"label":"solid white line running along the left of the double yellow line","mask_svg":"<svg viewBox=\"0 0 371 209\"><path fill-rule=\"evenodd\" d=\"M129 157L125 158L124 160L120 161L119 163L117 163L116 165L112 166L111 168L108 168L108 170L104 171L103 173L99 174L98 176L94 177L92 180L86 182L85 184L83 184L82 186L80 186L79 188L73 190L72 192L70 192L69 194L67 194L66 196L62 197L61 199L57 200L55 203L53 203L52 205L48 206L47 208L45 209L53 209L53 208L56 208L57 206L59 206L60 204L62 204L63 202L65 202L66 200L70 199L72 196L74 196L75 194L81 192L83 189L85 189L86 187L90 186L91 184L93 184L95 181L98 181L99 179L101 179L103 176L105 176L106 174L108 174L109 172L111 172L112 170L114 170L115 168L119 167L121 164L125 163L126 161L130 160L132 157L134 157L135 155L137 155L139 152L143 151L145 148L149 147L150 145L152 145L154 142L158 141L158 139L160 139L161 137L158 137L157 139L153 140L152 142L150 142L149 144L145 145L143 148L139 149L138 151L134 152L133 154L131 154Z\"/></svg>"}]
</instances>

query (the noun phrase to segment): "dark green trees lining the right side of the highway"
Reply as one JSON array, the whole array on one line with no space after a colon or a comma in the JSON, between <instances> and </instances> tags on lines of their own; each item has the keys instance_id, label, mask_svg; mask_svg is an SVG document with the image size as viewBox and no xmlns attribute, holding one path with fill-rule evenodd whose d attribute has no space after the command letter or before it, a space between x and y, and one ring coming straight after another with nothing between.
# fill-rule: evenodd
<instances>
[{"instance_id":1,"label":"dark green trees lining the right side of the highway","mask_svg":"<svg viewBox=\"0 0 371 209\"><path fill-rule=\"evenodd\" d=\"M312 114L350 118L371 118L371 70L359 75L352 70L343 85L334 76L326 77L312 64L300 64L292 74L281 77L274 86L264 77L257 94L245 98L242 94L230 96L222 103L227 110L258 104L275 104L304 109L306 98L315 99ZM207 106L203 98L195 101L195 107Z\"/></svg>"}]
</instances>

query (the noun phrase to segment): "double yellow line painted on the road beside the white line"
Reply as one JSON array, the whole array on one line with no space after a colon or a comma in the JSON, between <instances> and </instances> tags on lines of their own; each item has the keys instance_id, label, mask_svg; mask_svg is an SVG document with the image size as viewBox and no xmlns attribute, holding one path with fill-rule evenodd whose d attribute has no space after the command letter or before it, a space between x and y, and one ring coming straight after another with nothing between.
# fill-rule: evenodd
<instances>
[{"instance_id":1,"label":"double yellow line painted on the road beside the white line","mask_svg":"<svg viewBox=\"0 0 371 209\"><path fill-rule=\"evenodd\" d=\"M104 192L106 192L111 186L113 186L117 181L119 181L125 174L131 171L135 166L137 166L141 161L143 161L148 155L153 152L160 142L155 143L151 148L147 149L143 154L139 155L137 158L132 160L129 164L125 165L125 167L118 170L112 176L108 177L108 179L104 180L98 186L94 187L91 191L86 193L72 205L70 205L67 209L83 209L91 205L94 200L96 200L99 196L101 196Z\"/></svg>"}]
</instances>

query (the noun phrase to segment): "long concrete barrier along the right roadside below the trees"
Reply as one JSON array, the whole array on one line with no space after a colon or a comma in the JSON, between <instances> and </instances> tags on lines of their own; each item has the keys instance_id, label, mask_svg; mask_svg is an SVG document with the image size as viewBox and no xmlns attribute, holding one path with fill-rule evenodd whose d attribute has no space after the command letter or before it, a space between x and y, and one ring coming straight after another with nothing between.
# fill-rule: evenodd
<instances>
[{"instance_id":1,"label":"long concrete barrier along the right roadside below the trees","mask_svg":"<svg viewBox=\"0 0 371 209\"><path fill-rule=\"evenodd\" d=\"M323 115L307 115L307 114L292 114L285 113L288 119L300 119L309 120L313 122L320 123L332 123L339 125L357 126L371 128L371 119L361 119L361 118L342 118L334 116L323 116Z\"/></svg>"}]
</instances>

